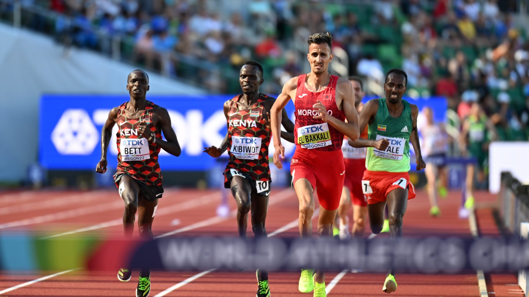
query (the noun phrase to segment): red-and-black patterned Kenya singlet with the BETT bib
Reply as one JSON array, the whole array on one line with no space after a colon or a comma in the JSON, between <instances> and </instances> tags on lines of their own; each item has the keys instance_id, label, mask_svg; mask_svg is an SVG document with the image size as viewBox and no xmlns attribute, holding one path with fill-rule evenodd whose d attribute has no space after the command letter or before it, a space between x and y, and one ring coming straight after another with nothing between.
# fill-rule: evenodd
<instances>
[{"instance_id":1,"label":"red-and-black patterned Kenya singlet with the BETT bib","mask_svg":"<svg viewBox=\"0 0 529 297\"><path fill-rule=\"evenodd\" d=\"M149 143L138 132L140 121L143 121L149 125L149 128L156 137L162 137L160 132L154 127L152 113L150 113L150 110L154 108L154 104L147 101L145 110L140 118L127 118L125 115L125 107L127 104L128 102L125 102L120 105L120 111L117 114L116 175L125 172L130 174L134 179L147 184L162 185L162 174L160 172L160 164L158 164L160 147L156 144Z\"/></svg>"}]
</instances>

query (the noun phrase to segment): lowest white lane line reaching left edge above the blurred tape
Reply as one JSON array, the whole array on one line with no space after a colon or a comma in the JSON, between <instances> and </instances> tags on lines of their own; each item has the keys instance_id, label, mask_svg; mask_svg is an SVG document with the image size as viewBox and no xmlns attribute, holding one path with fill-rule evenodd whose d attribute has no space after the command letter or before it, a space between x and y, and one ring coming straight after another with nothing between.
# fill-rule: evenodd
<instances>
[{"instance_id":1,"label":"lowest white lane line reaching left edge above the blurred tape","mask_svg":"<svg viewBox=\"0 0 529 297\"><path fill-rule=\"evenodd\" d=\"M20 227L20 226L26 226L26 225L32 225L32 224L40 224L43 222L49 222L49 221L67 219L67 218L74 218L78 216L94 214L95 212L106 211L111 208L121 207L122 205L123 205L123 202L115 201L115 202L105 203L101 205L80 207L76 209L55 212L54 214L48 214L48 215L33 217L29 219L7 222L4 224L0 224L0 229Z\"/></svg>"}]
</instances>

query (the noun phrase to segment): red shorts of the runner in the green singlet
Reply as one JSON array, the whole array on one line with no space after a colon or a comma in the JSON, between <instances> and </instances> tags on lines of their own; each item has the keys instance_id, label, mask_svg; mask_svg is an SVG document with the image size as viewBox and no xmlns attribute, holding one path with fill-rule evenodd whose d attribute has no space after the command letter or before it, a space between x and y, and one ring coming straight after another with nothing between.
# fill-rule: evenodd
<instances>
[{"instance_id":1,"label":"red shorts of the runner in the green singlet","mask_svg":"<svg viewBox=\"0 0 529 297\"><path fill-rule=\"evenodd\" d=\"M407 172L369 170L364 172L362 191L367 196L368 204L386 201L389 192L399 188L408 189L408 200L415 197L415 188L409 182Z\"/></svg>"}]
</instances>

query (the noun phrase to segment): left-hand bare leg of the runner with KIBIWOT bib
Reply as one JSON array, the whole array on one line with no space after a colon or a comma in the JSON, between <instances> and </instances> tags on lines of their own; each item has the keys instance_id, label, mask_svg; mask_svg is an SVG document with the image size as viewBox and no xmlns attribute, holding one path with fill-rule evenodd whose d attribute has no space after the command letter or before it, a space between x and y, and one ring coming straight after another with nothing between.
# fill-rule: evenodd
<instances>
[{"instance_id":1,"label":"left-hand bare leg of the runner with KIBIWOT bib","mask_svg":"<svg viewBox=\"0 0 529 297\"><path fill-rule=\"evenodd\" d=\"M230 183L230 188L237 203L237 227L239 236L246 238L246 229L248 228L248 212L251 208L252 187L247 179L235 175Z\"/></svg>"}]
</instances>

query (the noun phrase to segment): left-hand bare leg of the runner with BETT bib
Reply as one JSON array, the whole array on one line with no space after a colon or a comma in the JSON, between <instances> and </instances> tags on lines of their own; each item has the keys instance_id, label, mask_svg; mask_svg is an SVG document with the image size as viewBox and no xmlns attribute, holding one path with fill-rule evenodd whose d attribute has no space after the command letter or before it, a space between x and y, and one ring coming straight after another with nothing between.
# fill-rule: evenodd
<instances>
[{"instance_id":1,"label":"left-hand bare leg of the runner with BETT bib","mask_svg":"<svg viewBox=\"0 0 529 297\"><path fill-rule=\"evenodd\" d=\"M140 193L140 185L133 178L124 176L120 181L120 196L125 202L125 210L123 211L123 231L125 237L132 237L134 231L134 219L136 211L138 210L138 195Z\"/></svg>"}]
</instances>

